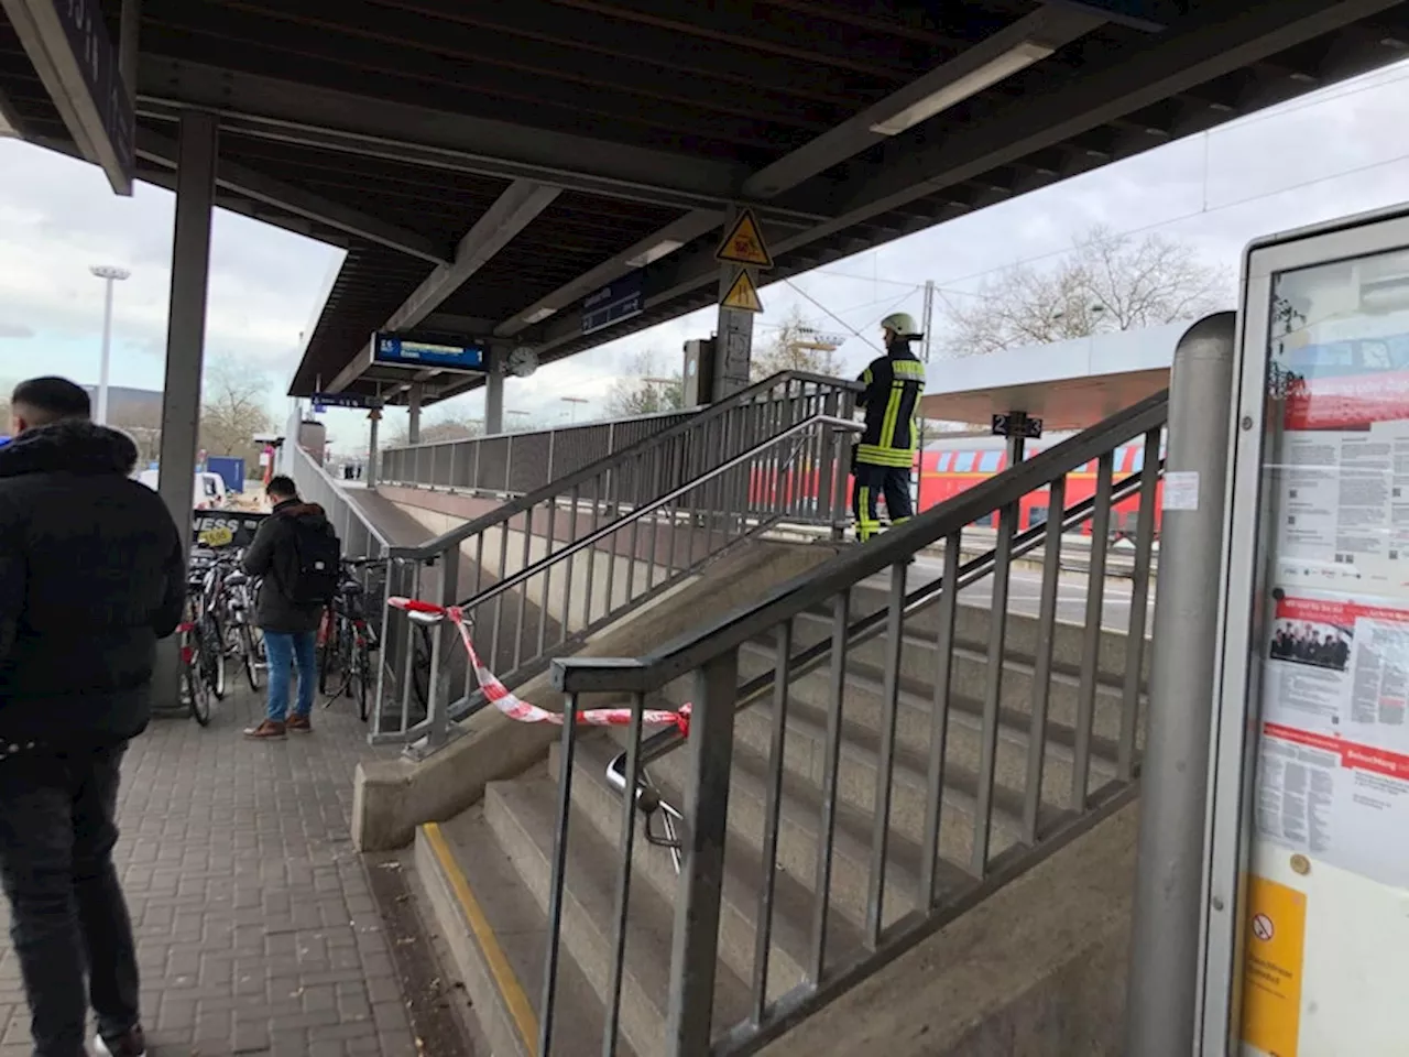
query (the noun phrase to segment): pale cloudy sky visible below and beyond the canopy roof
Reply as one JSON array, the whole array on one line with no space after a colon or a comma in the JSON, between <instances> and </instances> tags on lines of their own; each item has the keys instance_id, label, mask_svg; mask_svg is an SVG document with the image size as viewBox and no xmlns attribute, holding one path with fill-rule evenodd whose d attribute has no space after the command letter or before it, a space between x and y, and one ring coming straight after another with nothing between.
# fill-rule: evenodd
<instances>
[{"instance_id":1,"label":"pale cloudy sky visible below and beyond the canopy roof","mask_svg":"<svg viewBox=\"0 0 1409 1057\"><path fill-rule=\"evenodd\" d=\"M920 314L926 279L938 285L943 313L1012 264L1060 261L1098 223L1160 231L1236 273L1254 237L1409 197L1405 113L1409 63L910 235L764 288L755 344L797 307L819 328L859 333L841 348L845 364L859 369L875 354L868 341L882 316ZM168 192L147 185L117 199L96 168L0 140L0 383L41 368L97 379L103 289L89 268L111 264L132 273L117 288L111 381L162 388L172 204ZM340 259L341 251L320 242L216 216L207 355L263 375L280 419L299 335L317 319ZM579 421L602 414L612 379L643 350L655 351L662 372L676 369L682 342L706 337L712 324L713 311L695 313L510 381L506 407L541 423L565 420L562 397L571 395L592 399L578 409ZM482 406L478 395L461 397L427 420L476 416ZM330 427L349 443L364 421L334 412Z\"/></svg>"}]
</instances>

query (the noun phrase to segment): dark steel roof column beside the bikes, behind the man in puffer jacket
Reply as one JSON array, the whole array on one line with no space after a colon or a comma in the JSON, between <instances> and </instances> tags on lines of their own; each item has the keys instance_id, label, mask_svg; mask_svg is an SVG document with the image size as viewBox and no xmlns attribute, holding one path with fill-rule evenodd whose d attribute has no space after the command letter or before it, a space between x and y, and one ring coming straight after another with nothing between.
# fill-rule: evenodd
<instances>
[{"instance_id":1,"label":"dark steel roof column beside the bikes, behind the man in puffer jacket","mask_svg":"<svg viewBox=\"0 0 1409 1057\"><path fill-rule=\"evenodd\" d=\"M200 376L206 354L210 223L216 206L218 132L220 121L216 114L199 110L182 113L159 492L183 540L190 540L196 448L200 443ZM175 706L180 699L176 640L168 638L162 645L154 700Z\"/></svg>"}]
</instances>

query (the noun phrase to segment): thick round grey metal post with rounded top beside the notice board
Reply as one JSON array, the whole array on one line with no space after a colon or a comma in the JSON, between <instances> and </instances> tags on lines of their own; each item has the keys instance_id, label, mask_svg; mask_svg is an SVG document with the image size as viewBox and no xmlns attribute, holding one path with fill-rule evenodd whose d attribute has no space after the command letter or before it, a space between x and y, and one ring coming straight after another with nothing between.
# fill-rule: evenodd
<instances>
[{"instance_id":1,"label":"thick round grey metal post with rounded top beside the notice board","mask_svg":"<svg viewBox=\"0 0 1409 1057\"><path fill-rule=\"evenodd\" d=\"M1160 528L1150 716L1140 768L1140 846L1123 1053L1189 1057L1196 1033L1203 837L1220 558L1233 403L1234 314L1193 324L1174 354L1165 488L1179 509ZM1168 496L1168 490L1165 492Z\"/></svg>"}]
</instances>

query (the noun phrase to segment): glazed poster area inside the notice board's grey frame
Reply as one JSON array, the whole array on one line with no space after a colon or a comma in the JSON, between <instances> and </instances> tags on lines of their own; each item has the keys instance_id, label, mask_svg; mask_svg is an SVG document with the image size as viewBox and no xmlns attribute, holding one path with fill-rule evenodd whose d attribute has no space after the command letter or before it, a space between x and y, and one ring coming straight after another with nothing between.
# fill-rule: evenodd
<instances>
[{"instance_id":1,"label":"glazed poster area inside the notice board's grey frame","mask_svg":"<svg viewBox=\"0 0 1409 1057\"><path fill-rule=\"evenodd\" d=\"M1401 1053L1409 251L1274 275L1270 320L1239 1034L1244 1054Z\"/></svg>"}]
</instances>

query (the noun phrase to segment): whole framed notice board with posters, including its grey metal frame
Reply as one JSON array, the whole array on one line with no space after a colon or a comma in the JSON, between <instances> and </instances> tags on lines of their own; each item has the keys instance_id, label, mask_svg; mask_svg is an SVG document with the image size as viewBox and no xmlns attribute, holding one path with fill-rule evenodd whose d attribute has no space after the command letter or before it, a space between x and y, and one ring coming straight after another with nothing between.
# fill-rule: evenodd
<instances>
[{"instance_id":1,"label":"whole framed notice board with posters, including its grey metal frame","mask_svg":"<svg viewBox=\"0 0 1409 1057\"><path fill-rule=\"evenodd\" d=\"M1244 292L1200 1053L1405 1053L1409 211Z\"/></svg>"}]
</instances>

